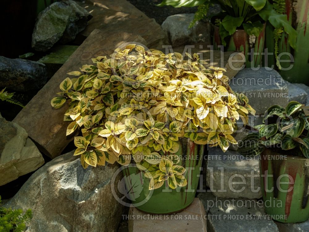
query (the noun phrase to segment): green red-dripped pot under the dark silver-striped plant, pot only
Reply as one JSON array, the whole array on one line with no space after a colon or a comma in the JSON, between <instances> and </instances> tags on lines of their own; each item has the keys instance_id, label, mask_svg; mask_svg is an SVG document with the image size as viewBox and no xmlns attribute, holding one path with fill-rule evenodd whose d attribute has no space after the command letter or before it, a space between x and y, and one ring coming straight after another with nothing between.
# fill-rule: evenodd
<instances>
[{"instance_id":1,"label":"green red-dripped pot under the dark silver-striped plant, pot only","mask_svg":"<svg viewBox=\"0 0 309 232\"><path fill-rule=\"evenodd\" d=\"M260 174L267 214L280 222L308 220L309 159L265 149L261 154Z\"/></svg>"}]
</instances>

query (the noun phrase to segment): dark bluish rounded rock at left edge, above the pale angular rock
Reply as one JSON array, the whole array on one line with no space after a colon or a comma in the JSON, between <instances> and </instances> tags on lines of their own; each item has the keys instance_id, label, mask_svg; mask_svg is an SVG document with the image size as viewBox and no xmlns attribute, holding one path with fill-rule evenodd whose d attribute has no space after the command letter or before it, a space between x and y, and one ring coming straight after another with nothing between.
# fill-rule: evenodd
<instances>
[{"instance_id":1,"label":"dark bluish rounded rock at left edge, above the pale angular rock","mask_svg":"<svg viewBox=\"0 0 309 232\"><path fill-rule=\"evenodd\" d=\"M40 89L47 80L44 64L0 56L0 87L15 91Z\"/></svg>"}]
</instances>

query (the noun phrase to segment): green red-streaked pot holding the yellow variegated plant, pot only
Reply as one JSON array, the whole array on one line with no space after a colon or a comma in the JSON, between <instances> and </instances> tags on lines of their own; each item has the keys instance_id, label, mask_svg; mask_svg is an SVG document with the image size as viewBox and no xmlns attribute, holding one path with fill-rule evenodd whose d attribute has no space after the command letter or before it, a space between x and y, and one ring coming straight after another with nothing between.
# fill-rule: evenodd
<instances>
[{"instance_id":1,"label":"green red-streaked pot holding the yellow variegated plant, pot only","mask_svg":"<svg viewBox=\"0 0 309 232\"><path fill-rule=\"evenodd\" d=\"M178 165L187 170L187 186L171 189L165 182L162 187L149 190L150 179L144 176L143 171L134 167L134 164L123 170L126 189L136 189L131 191L128 198L138 210L150 214L171 214L184 210L193 202L199 183L204 146L186 138L181 138L178 143L180 148L176 155L183 157Z\"/></svg>"}]
</instances>

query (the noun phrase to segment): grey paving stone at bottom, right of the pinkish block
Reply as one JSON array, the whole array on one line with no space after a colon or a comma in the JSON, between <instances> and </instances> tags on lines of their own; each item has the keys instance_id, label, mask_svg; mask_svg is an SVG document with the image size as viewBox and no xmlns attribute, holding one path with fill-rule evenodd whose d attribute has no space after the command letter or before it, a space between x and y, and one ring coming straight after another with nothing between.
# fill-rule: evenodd
<instances>
[{"instance_id":1,"label":"grey paving stone at bottom, right of the pinkish block","mask_svg":"<svg viewBox=\"0 0 309 232\"><path fill-rule=\"evenodd\" d=\"M211 192L197 196L207 212L208 232L278 232L266 215L263 202L250 199L216 198Z\"/></svg>"}]
</instances>

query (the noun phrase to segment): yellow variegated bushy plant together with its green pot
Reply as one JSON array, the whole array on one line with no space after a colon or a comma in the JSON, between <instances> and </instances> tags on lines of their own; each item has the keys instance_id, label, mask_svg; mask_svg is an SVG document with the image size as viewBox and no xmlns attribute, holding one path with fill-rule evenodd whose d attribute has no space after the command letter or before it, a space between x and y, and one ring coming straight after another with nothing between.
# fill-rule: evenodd
<instances>
[{"instance_id":1,"label":"yellow variegated bushy plant together with its green pot","mask_svg":"<svg viewBox=\"0 0 309 232\"><path fill-rule=\"evenodd\" d=\"M74 155L84 168L131 164L124 169L127 197L143 212L186 208L195 197L204 145L226 151L236 143L236 120L255 111L237 100L223 68L206 69L197 54L184 58L133 44L92 60L69 72L77 78L66 78L51 101L56 108L69 101L67 135L81 128Z\"/></svg>"}]
</instances>

